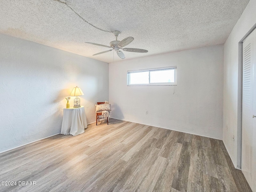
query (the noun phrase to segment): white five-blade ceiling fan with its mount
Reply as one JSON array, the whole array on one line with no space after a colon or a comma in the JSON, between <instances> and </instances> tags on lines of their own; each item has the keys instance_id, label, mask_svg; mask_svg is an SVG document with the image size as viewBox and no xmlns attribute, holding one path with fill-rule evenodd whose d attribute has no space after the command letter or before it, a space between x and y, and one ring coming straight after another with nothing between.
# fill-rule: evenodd
<instances>
[{"instance_id":1,"label":"white five-blade ceiling fan with its mount","mask_svg":"<svg viewBox=\"0 0 256 192\"><path fill-rule=\"evenodd\" d=\"M145 49L137 49L137 48L123 48L124 46L130 44L134 38L133 37L126 37L125 39L123 39L122 41L118 41L117 40L117 36L120 35L120 31L113 31L113 34L114 36L116 36L116 40L115 41L112 41L110 42L110 46L106 46L106 45L101 45L101 44L96 44L96 43L90 43L90 42L86 42L88 44L93 44L93 45L98 45L98 46L102 46L102 47L108 47L108 48L112 48L110 50L107 50L107 51L103 51L103 52L100 52L100 53L96 53L94 55L99 55L99 54L102 54L102 53L106 53L106 52L110 52L112 50L115 50L117 55L121 58L121 59L124 59L125 56L124 56L124 53L120 50L122 49L123 51L128 51L128 52L137 52L137 53L146 53L148 52L148 50L145 50Z\"/></svg>"}]
</instances>

